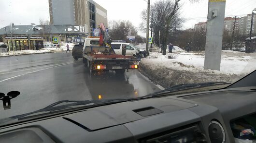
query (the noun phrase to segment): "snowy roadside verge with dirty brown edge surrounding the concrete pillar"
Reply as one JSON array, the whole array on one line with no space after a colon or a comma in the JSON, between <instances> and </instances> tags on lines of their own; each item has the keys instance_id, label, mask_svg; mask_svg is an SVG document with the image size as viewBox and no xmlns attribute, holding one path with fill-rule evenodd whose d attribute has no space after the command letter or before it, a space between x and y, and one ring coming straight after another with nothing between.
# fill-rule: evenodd
<instances>
[{"instance_id":1,"label":"snowy roadside verge with dirty brown edge surrounding the concrete pillar","mask_svg":"<svg viewBox=\"0 0 256 143\"><path fill-rule=\"evenodd\" d=\"M256 53L223 51L221 70L204 70L204 53L174 53L176 59L168 55L152 52L140 62L140 69L151 80L164 87L183 83L235 82L256 69Z\"/></svg>"}]
</instances>

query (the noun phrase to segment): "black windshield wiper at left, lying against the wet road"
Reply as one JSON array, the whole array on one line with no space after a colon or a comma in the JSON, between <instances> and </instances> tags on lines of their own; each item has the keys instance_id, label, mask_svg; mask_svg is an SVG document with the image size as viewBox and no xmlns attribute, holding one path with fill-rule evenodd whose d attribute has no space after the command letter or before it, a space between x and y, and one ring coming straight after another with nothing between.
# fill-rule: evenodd
<instances>
[{"instance_id":1,"label":"black windshield wiper at left, lying against the wet road","mask_svg":"<svg viewBox=\"0 0 256 143\"><path fill-rule=\"evenodd\" d=\"M74 106L79 106L79 105L99 105L99 104L113 104L113 103L119 103L119 102L125 102L128 101L128 99L102 99L102 100L84 100L84 101L75 101L75 100L61 100L61 101L57 101L47 107L44 107L42 109L33 111L33 112L29 112L29 113L25 113L25 114L21 114L21 115L16 115L16 116L12 116L9 117L10 119L21 119L24 118L28 115L32 115L35 113L39 113L39 112L47 112L47 111L56 111L56 110L62 110L62 109L66 109L66 108L72 108ZM65 105L60 105L57 106L61 103L70 103L70 104L65 104ZM48 113L48 112L47 112ZM38 116L40 116L41 114L39 114Z\"/></svg>"}]
</instances>

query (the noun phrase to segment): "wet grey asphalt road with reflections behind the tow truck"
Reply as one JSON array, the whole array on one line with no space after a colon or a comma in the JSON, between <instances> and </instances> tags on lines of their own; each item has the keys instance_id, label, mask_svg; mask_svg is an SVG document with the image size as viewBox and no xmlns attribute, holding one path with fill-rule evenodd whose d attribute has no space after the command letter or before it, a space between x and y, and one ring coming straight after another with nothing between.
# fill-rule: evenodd
<instances>
[{"instance_id":1,"label":"wet grey asphalt road with reflections behind the tow truck","mask_svg":"<svg viewBox=\"0 0 256 143\"><path fill-rule=\"evenodd\" d=\"M102 72L90 75L81 60L70 53L47 53L0 58L0 92L19 91L12 107L0 118L31 112L59 100L132 98L159 91L137 70L123 75Z\"/></svg>"}]
</instances>

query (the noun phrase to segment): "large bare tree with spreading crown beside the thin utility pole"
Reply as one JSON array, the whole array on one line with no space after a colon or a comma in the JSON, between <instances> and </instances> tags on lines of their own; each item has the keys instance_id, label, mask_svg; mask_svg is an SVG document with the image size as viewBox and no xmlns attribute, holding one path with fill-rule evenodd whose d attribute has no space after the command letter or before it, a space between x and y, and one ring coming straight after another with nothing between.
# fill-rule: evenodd
<instances>
[{"instance_id":1,"label":"large bare tree with spreading crown beside the thin utility pole","mask_svg":"<svg viewBox=\"0 0 256 143\"><path fill-rule=\"evenodd\" d=\"M184 22L180 16L180 1L182 0L159 0L151 6L150 22L153 25L153 32L155 34L155 42L158 43L159 31L160 42L162 44L163 55L166 54L167 48L167 39L169 34ZM191 2L198 0L189 0ZM145 27L146 22L146 10L143 10L141 13L142 23L140 28Z\"/></svg>"}]
</instances>

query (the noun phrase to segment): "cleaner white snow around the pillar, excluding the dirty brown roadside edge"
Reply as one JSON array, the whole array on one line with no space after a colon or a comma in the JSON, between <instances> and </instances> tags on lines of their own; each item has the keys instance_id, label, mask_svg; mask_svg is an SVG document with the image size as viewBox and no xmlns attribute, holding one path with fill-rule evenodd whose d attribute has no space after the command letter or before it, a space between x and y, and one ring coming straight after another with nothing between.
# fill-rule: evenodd
<instances>
[{"instance_id":1,"label":"cleaner white snow around the pillar, excluding the dirty brown roadside edge","mask_svg":"<svg viewBox=\"0 0 256 143\"><path fill-rule=\"evenodd\" d=\"M168 59L169 55L177 56L176 59ZM242 52L237 51L224 51L221 57L221 69L220 71L211 71L214 73L224 74L241 74L248 73L256 69L256 57L245 55ZM256 54L251 54L256 56ZM175 68L178 70L194 71L203 70L204 66L204 54L202 53L173 53L163 56L161 53L152 52L147 59L143 59L143 62L149 62L154 67L166 67ZM179 64L182 63L181 64ZM161 63L161 64L159 64ZM250 65L251 63L251 65Z\"/></svg>"}]
</instances>

